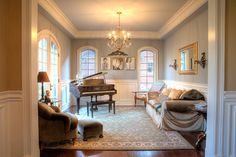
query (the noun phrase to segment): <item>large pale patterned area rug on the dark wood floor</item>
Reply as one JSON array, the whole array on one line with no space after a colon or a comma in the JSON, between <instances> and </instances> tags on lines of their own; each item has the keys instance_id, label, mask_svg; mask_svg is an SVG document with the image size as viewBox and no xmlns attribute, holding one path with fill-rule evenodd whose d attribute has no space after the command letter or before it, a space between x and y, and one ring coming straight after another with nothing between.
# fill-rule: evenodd
<instances>
[{"instance_id":1,"label":"large pale patterned area rug on the dark wood floor","mask_svg":"<svg viewBox=\"0 0 236 157\"><path fill-rule=\"evenodd\" d=\"M91 119L82 108L78 119ZM176 131L157 128L143 107L117 107L116 114L108 112L107 106L99 106L94 118L103 124L103 138L83 141L74 145L63 144L52 148L80 150L169 150L194 149Z\"/></svg>"}]
</instances>

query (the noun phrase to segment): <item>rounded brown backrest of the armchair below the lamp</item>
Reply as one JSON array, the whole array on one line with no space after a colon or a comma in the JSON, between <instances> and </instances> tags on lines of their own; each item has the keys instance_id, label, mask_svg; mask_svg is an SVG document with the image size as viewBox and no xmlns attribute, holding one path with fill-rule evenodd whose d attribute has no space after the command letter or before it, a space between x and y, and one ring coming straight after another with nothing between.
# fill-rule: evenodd
<instances>
[{"instance_id":1,"label":"rounded brown backrest of the armchair below the lamp","mask_svg":"<svg viewBox=\"0 0 236 157\"><path fill-rule=\"evenodd\" d=\"M45 103L38 103L38 113L44 119L50 119L55 111Z\"/></svg>"}]
</instances>

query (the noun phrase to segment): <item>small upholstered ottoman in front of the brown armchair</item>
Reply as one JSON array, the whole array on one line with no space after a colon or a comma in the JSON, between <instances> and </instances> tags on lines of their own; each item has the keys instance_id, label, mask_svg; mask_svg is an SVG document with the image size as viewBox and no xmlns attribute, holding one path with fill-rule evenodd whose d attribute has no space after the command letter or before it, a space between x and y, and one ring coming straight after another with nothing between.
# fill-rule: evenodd
<instances>
[{"instance_id":1,"label":"small upholstered ottoman in front of the brown armchair","mask_svg":"<svg viewBox=\"0 0 236 157\"><path fill-rule=\"evenodd\" d=\"M103 125L102 123L88 119L79 120L78 133L83 137L84 141L87 141L90 137L103 137Z\"/></svg>"}]
</instances>

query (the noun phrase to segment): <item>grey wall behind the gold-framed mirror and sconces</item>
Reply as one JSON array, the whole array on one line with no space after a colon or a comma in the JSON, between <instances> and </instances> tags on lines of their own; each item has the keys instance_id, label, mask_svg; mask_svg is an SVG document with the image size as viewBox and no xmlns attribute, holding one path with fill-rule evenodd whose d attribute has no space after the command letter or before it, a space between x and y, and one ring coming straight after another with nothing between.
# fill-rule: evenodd
<instances>
[{"instance_id":1,"label":"grey wall behind the gold-framed mirror and sconces","mask_svg":"<svg viewBox=\"0 0 236 157\"><path fill-rule=\"evenodd\" d=\"M200 8L184 23L178 26L164 40L164 79L182 82L207 84L207 66L203 69L198 65L197 75L179 75L170 68L174 59L178 58L178 49L198 42L198 59L202 52L208 52L208 11L207 5Z\"/></svg>"}]
</instances>

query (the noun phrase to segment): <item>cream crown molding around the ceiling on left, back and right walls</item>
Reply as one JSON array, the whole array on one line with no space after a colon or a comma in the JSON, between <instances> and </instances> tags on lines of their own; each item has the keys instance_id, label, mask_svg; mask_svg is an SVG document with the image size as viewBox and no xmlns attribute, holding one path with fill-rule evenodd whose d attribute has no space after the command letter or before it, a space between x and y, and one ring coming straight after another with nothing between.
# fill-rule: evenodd
<instances>
[{"instance_id":1,"label":"cream crown molding around the ceiling on left, back and right walls","mask_svg":"<svg viewBox=\"0 0 236 157\"><path fill-rule=\"evenodd\" d=\"M203 6L207 0L189 0L183 5L159 31L132 31L133 39L162 39L181 22ZM38 0L43 7L74 38L107 38L109 31L79 31L69 18L60 10L54 0Z\"/></svg>"}]
</instances>

